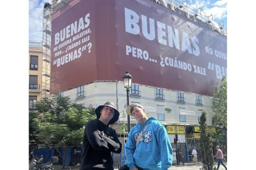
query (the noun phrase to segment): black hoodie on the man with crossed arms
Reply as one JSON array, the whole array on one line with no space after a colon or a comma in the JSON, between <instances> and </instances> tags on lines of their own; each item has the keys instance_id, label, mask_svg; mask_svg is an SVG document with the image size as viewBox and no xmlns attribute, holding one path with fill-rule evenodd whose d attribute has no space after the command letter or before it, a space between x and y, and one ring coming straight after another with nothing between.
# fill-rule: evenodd
<instances>
[{"instance_id":1,"label":"black hoodie on the man with crossed arms","mask_svg":"<svg viewBox=\"0 0 256 170\"><path fill-rule=\"evenodd\" d=\"M122 144L115 129L94 119L85 126L82 148L80 170L113 169L111 152L121 153Z\"/></svg>"}]
</instances>

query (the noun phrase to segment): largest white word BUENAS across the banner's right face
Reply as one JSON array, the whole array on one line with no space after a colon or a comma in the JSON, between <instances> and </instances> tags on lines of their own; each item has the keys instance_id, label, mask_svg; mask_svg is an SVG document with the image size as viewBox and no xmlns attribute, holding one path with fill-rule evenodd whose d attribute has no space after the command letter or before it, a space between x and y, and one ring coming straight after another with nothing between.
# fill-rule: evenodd
<instances>
[{"instance_id":1,"label":"largest white word BUENAS across the banner's right face","mask_svg":"<svg viewBox=\"0 0 256 170\"><path fill-rule=\"evenodd\" d=\"M139 22L141 18L141 26L140 28ZM158 36L158 42L165 46L175 47L178 50L189 52L189 54L193 54L195 56L200 55L200 49L198 47L198 38L196 36L189 37L189 34L183 32L181 34L182 38L180 39L179 30L173 28L165 23L161 23L152 18L148 18L145 15L141 17L136 14L133 10L125 8L125 24L126 24L126 32L130 34L143 34L145 38L150 41L153 41ZM155 31L155 27L157 31ZM166 28L167 27L167 28ZM140 33L142 31L142 33ZM180 47L181 46L181 47Z\"/></svg>"}]
</instances>

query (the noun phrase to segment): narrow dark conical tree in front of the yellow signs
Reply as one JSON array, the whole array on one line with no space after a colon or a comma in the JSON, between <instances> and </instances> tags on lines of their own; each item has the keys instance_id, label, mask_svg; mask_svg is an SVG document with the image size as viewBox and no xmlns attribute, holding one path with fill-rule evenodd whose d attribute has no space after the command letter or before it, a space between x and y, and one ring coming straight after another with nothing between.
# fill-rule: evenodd
<instances>
[{"instance_id":1,"label":"narrow dark conical tree in front of the yellow signs","mask_svg":"<svg viewBox=\"0 0 256 170\"><path fill-rule=\"evenodd\" d=\"M213 140L210 132L207 132L207 113L202 112L200 116L200 154L202 155L203 169L213 169Z\"/></svg>"}]
</instances>

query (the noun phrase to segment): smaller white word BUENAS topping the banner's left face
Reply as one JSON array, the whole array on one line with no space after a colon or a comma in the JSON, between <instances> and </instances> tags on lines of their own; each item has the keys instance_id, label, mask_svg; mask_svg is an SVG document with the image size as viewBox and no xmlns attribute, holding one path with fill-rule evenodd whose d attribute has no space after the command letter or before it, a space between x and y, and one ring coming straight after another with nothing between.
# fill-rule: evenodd
<instances>
[{"instance_id":1,"label":"smaller white word BUENAS topping the banner's left face","mask_svg":"<svg viewBox=\"0 0 256 170\"><path fill-rule=\"evenodd\" d=\"M59 42L64 41L70 36L73 36L76 33L84 30L90 25L90 13L86 14L85 17L80 18L78 21L67 25L66 28L63 28L61 31L55 34L54 45L56 46Z\"/></svg>"}]
</instances>

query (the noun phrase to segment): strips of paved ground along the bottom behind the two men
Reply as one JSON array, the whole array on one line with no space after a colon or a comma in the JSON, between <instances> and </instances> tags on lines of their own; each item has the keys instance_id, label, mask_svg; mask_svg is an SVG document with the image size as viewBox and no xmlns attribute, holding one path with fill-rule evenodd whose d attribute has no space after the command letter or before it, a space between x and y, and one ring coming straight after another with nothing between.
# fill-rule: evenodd
<instances>
[{"instance_id":1,"label":"strips of paved ground along the bottom behind the two men","mask_svg":"<svg viewBox=\"0 0 256 170\"><path fill-rule=\"evenodd\" d=\"M226 166L227 166L227 162L224 163ZM171 166L171 168L169 168L170 170L186 170L186 169L190 169L190 170L193 170L193 169L200 169L202 168L202 163L198 163L198 164L194 164L194 163L184 163L184 164L180 164L180 165L174 165L174 166ZM214 166L216 166L217 168L217 163L215 162ZM53 168L54 170L58 170L58 169L62 169L62 165L59 165L59 164L53 164ZM79 166L65 166L64 169L72 169L72 170L79 170ZM228 166L227 166L228 168ZM117 167L114 167L114 170L117 170L118 168ZM224 170L225 168L220 165L220 168L219 170Z\"/></svg>"}]
</instances>

